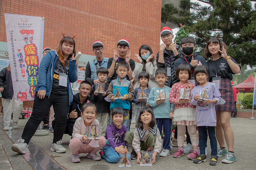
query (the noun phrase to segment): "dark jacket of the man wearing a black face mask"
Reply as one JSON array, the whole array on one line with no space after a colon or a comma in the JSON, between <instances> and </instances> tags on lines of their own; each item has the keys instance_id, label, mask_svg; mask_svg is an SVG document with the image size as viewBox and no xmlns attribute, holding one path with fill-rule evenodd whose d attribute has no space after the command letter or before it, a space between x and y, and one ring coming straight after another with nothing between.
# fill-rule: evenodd
<instances>
[{"instance_id":1,"label":"dark jacket of the man wearing a black face mask","mask_svg":"<svg viewBox=\"0 0 256 170\"><path fill-rule=\"evenodd\" d=\"M200 62L202 63L202 65L206 66L207 69L208 69L208 64L206 63L206 61L205 61L205 59L204 59L203 56L199 55L199 53L194 53L193 57L194 57L194 60L200 61ZM188 62L186 61L186 59L187 59ZM190 56L189 58L186 57L186 59L185 59L185 57L184 57L184 55L183 55L183 56L181 56L180 58L178 58L178 59L175 61L175 63L174 63L174 74L176 75L177 67L178 67L180 64L188 64L188 63L189 63L189 64L188 64L189 67L191 68L191 70L193 69L193 72L192 72L192 76L191 76L191 77L194 77L194 70L195 70L196 67L193 67L193 66L190 64L190 62L191 62L191 60L192 60L192 56Z\"/></svg>"}]
</instances>

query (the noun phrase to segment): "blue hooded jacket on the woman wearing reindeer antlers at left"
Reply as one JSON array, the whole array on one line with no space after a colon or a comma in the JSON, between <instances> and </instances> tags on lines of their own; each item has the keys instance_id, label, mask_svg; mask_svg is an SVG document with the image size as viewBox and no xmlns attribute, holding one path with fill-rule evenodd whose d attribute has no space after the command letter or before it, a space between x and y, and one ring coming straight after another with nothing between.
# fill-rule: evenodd
<instances>
[{"instance_id":1,"label":"blue hooded jacket on the woman wearing reindeer antlers at left","mask_svg":"<svg viewBox=\"0 0 256 170\"><path fill-rule=\"evenodd\" d=\"M35 89L36 92L38 92L38 90L45 90L45 96L50 97L50 93L52 91L54 68L57 59L58 55L55 51L49 51L43 57L38 69L38 82ZM70 105L70 103L73 101L73 92L70 83L74 83L77 80L76 60L71 61L71 59L69 59L68 67L68 97Z\"/></svg>"}]
</instances>

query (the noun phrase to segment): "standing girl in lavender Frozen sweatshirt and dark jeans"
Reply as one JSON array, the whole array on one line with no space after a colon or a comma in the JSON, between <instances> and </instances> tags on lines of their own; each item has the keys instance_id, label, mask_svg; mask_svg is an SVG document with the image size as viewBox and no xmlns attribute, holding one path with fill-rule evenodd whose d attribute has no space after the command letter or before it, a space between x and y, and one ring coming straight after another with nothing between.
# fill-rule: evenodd
<instances>
[{"instance_id":1,"label":"standing girl in lavender Frozen sweatshirt and dark jeans","mask_svg":"<svg viewBox=\"0 0 256 170\"><path fill-rule=\"evenodd\" d=\"M196 125L199 132L200 155L198 155L193 162L201 163L207 161L205 146L208 129L212 149L210 165L218 165L217 139L215 136L215 126L217 122L215 105L219 103L221 94L217 85L207 81L209 72L205 66L196 67L194 70L194 78L196 78L196 81L200 84L193 88L191 100L191 104L196 106ZM202 97L203 101L200 101Z\"/></svg>"}]
</instances>

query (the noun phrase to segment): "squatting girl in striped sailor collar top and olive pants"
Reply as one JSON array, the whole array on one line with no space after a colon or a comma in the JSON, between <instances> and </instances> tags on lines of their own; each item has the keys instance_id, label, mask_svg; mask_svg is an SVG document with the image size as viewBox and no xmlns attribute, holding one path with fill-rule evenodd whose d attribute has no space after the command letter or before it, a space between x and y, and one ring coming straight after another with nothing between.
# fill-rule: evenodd
<instances>
[{"instance_id":1,"label":"squatting girl in striped sailor collar top and olive pants","mask_svg":"<svg viewBox=\"0 0 256 170\"><path fill-rule=\"evenodd\" d=\"M149 107L143 107L140 110L140 116L135 127L134 135L131 131L126 132L124 140L132 148L131 158L137 157L137 163L140 164L140 150L151 151L154 147L152 164L156 160L156 155L162 148L161 134L156 125L156 118L153 110Z\"/></svg>"}]
</instances>

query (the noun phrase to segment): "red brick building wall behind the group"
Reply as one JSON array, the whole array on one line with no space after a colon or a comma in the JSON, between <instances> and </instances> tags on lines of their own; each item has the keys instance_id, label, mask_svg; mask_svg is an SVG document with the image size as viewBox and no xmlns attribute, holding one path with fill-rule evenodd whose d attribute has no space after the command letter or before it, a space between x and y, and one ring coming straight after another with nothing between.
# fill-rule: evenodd
<instances>
[{"instance_id":1,"label":"red brick building wall behind the group","mask_svg":"<svg viewBox=\"0 0 256 170\"><path fill-rule=\"evenodd\" d=\"M117 41L122 38L129 39L132 58L143 44L148 44L155 54L159 50L162 0L1 2L0 41L3 42L6 42L4 13L11 13L45 17L44 47L56 49L61 33L65 33L67 36L76 35L76 51L87 55L94 55L92 43L101 40L104 56L112 57ZM33 101L23 102L23 106L32 107Z\"/></svg>"}]
</instances>

